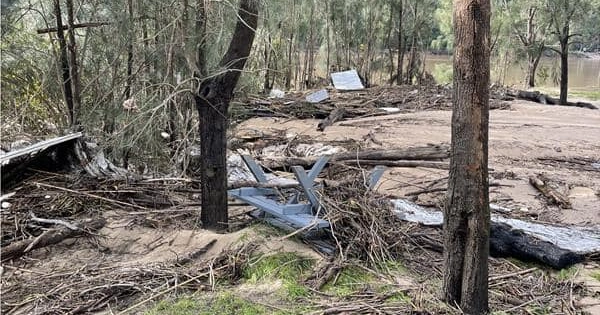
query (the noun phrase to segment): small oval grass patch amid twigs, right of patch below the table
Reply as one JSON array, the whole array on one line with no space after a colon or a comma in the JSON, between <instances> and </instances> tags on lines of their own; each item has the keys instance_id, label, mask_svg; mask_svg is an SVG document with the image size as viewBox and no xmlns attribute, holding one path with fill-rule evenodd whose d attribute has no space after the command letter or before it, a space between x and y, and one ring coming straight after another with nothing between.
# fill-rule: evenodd
<instances>
[{"instance_id":1,"label":"small oval grass patch amid twigs, right of patch below the table","mask_svg":"<svg viewBox=\"0 0 600 315\"><path fill-rule=\"evenodd\" d=\"M347 266L336 278L326 283L323 290L338 296L346 296L369 286L372 280L373 275L364 269L358 266Z\"/></svg>"}]
</instances>

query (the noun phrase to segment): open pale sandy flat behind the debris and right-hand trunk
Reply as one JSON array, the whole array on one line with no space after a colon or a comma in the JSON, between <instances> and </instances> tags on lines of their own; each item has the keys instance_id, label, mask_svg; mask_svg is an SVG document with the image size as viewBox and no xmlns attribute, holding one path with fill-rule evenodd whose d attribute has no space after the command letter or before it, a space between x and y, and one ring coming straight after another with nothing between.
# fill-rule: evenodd
<instances>
[{"instance_id":1,"label":"open pale sandy flat behind the debris and right-hand trunk","mask_svg":"<svg viewBox=\"0 0 600 315\"><path fill-rule=\"evenodd\" d=\"M525 101L511 102L511 107L490 112L490 180L500 185L491 188L491 201L512 209L518 217L600 228L600 165L539 160L585 158L600 163L600 111ZM365 141L364 146L403 148L450 143L451 115L450 111L426 111L354 119L338 122L325 132L316 131L317 120L256 118L238 130L284 130L323 142L364 141L371 133L380 144ZM569 197L572 209L548 205L540 197L529 184L529 176L538 174ZM424 188L428 180L446 176L445 170L390 168L379 189L402 197Z\"/></svg>"}]
</instances>

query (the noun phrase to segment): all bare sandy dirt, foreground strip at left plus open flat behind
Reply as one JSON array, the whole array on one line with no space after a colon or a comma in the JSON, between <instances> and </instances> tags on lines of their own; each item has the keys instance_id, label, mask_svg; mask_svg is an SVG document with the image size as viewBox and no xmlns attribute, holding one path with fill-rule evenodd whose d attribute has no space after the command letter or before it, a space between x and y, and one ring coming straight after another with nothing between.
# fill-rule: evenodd
<instances>
[{"instance_id":1,"label":"all bare sandy dirt, foreground strip at left plus open flat behind","mask_svg":"<svg viewBox=\"0 0 600 315\"><path fill-rule=\"evenodd\" d=\"M511 109L494 110L490 117L489 164L491 182L495 184L490 190L491 201L511 209L513 217L600 229L600 111L529 102L510 104ZM362 147L402 148L449 143L450 119L450 111L415 111L342 121L319 132L316 131L318 120L254 118L238 125L235 132L284 132L289 138L305 135L316 142L355 140ZM369 134L370 140L364 140ZM529 176L539 174L545 175L557 190L569 197L572 209L549 205L540 197L528 181ZM389 168L378 190L405 197L428 188L426 183L443 180L446 176L447 171L440 169ZM443 187L443 181L440 185ZM442 195L443 192L420 194L417 202L436 205ZM232 244L256 239L256 232L251 228L215 234L177 226L148 227L139 224L139 216L120 210L104 212L102 216L108 223L97 232L98 237L93 241L67 240L51 248L33 251L18 262L3 264L3 288L14 288L27 282L35 285L35 280L40 279L47 279L48 285L52 283L51 279L65 274L69 279L83 279L90 277L93 273L90 270L165 264L216 240L203 255L204 259L209 259ZM322 259L307 246L281 236L261 237L255 242L260 243L264 252L296 251ZM578 301L582 303L579 309L591 314L600 314L600 282L589 276L598 268L597 263L584 264L577 278L590 292ZM411 283L410 279L407 283ZM45 290L59 291L61 285L54 283ZM26 297L20 297L21 301L8 293L7 301L6 296L3 292L4 313L44 313Z\"/></svg>"}]
</instances>

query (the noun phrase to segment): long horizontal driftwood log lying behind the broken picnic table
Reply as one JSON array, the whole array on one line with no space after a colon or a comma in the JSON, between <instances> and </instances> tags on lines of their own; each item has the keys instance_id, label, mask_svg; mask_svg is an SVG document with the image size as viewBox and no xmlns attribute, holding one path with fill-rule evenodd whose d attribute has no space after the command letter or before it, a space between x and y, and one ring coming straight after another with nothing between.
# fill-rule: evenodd
<instances>
[{"instance_id":1,"label":"long horizontal driftwood log lying behind the broken picnic table","mask_svg":"<svg viewBox=\"0 0 600 315\"><path fill-rule=\"evenodd\" d=\"M440 161L449 157L449 147L447 145L429 145L423 147L411 147L405 149L391 150L369 150L357 152L344 152L331 156L331 162L342 161ZM313 165L319 157L306 158L283 158L263 161L262 164L270 169L282 169L291 165L300 165L309 167ZM416 163L416 162L415 162ZM399 163L400 165L401 163ZM408 165L408 164L405 164Z\"/></svg>"}]
</instances>

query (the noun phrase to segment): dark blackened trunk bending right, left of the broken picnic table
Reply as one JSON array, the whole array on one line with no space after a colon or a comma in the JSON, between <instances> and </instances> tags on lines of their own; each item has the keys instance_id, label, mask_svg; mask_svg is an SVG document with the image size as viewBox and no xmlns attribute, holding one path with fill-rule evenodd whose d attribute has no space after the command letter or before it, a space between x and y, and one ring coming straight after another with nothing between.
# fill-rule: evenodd
<instances>
[{"instance_id":1,"label":"dark blackened trunk bending right, left of the broken picnic table","mask_svg":"<svg viewBox=\"0 0 600 315\"><path fill-rule=\"evenodd\" d=\"M204 228L227 229L227 125L233 90L250 55L258 24L256 0L241 0L238 20L227 52L220 62L221 74L205 79L195 96L200 116L200 181Z\"/></svg>"}]
</instances>

